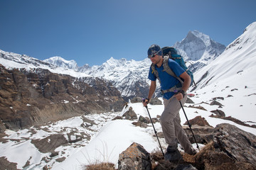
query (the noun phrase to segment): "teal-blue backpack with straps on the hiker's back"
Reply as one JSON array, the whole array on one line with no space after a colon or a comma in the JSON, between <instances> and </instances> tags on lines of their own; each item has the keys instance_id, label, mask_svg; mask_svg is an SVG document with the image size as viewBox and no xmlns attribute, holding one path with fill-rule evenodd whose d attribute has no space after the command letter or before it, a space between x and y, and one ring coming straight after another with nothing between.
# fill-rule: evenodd
<instances>
[{"instance_id":1,"label":"teal-blue backpack with straps on the hiker's back","mask_svg":"<svg viewBox=\"0 0 256 170\"><path fill-rule=\"evenodd\" d=\"M180 81L181 84L183 84L183 79L181 79L180 77L177 77L176 74L174 74L174 72L169 67L169 64L168 64L169 58L171 60L174 60L191 77L191 84L190 84L190 86L192 86L192 84L193 84L193 73L188 69L188 67L186 67L186 64L185 64L185 62L183 60L183 57L181 57L181 55L178 55L177 50L174 47L163 47L161 50L163 51L163 56L164 56L164 62L163 62L164 71L167 72L168 74L170 74L172 77L175 77L176 79L178 79L178 81ZM151 64L151 69L152 69L152 71L154 72L154 75L156 76L156 78L159 80L159 82L161 84L158 72L155 69L155 64ZM196 86L196 84L195 84L195 86ZM175 88L171 88L171 89L167 90L166 92L173 91L174 89Z\"/></svg>"}]
</instances>

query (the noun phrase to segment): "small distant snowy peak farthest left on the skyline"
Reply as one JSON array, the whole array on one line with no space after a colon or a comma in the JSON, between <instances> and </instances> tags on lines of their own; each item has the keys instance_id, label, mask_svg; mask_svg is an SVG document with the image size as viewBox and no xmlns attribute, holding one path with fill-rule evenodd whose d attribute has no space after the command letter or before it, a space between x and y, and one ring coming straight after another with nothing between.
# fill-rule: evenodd
<instances>
[{"instance_id":1,"label":"small distant snowy peak farthest left on the skyline","mask_svg":"<svg viewBox=\"0 0 256 170\"><path fill-rule=\"evenodd\" d=\"M54 64L57 67L63 67L66 69L74 69L78 70L78 64L75 62L75 60L65 60L62 57L50 57L49 59L43 60L44 62L48 62L50 64Z\"/></svg>"}]
</instances>

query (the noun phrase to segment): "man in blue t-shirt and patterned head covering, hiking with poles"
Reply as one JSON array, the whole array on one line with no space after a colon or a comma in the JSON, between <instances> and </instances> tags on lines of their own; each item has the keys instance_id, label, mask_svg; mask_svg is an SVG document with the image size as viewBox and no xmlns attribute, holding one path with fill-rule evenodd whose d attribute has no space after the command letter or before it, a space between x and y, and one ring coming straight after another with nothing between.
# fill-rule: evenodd
<instances>
[{"instance_id":1,"label":"man in blue t-shirt and patterned head covering, hiking with poles","mask_svg":"<svg viewBox=\"0 0 256 170\"><path fill-rule=\"evenodd\" d=\"M187 99L186 91L191 84L191 78L177 62L171 59L168 60L169 67L178 77L183 79L183 84L181 84L175 77L172 77L170 74L163 71L164 56L159 45L151 45L151 47L149 47L148 57L152 64L155 65L154 68L158 72L159 81L161 82L161 94L164 95L164 112L161 114L160 123L164 133L164 139L169 145L167 147L167 152L164 155L164 159L169 161L182 159L181 153L178 151L178 142L186 153L192 155L196 154L196 150L193 149L191 142L189 142L188 137L181 126L181 118L179 115L181 109L179 101L181 101L182 105L185 103ZM148 78L151 80L151 84L148 97L142 102L144 106L147 106L156 90L157 77L152 68L153 67L149 68ZM176 93L173 92L174 89L177 91ZM165 93L163 93L163 91L165 91Z\"/></svg>"}]
</instances>

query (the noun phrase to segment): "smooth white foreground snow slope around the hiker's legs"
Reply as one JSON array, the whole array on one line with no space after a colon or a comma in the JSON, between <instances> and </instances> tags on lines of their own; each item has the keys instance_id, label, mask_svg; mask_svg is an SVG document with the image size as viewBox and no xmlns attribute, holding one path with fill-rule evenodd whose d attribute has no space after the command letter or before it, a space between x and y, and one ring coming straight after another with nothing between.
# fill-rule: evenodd
<instances>
[{"instance_id":1,"label":"smooth white foreground snow slope around the hiker's legs","mask_svg":"<svg viewBox=\"0 0 256 170\"><path fill-rule=\"evenodd\" d=\"M142 103L129 103L127 109L124 109L122 113L128 110L132 106L135 113L142 116L146 116L146 108L142 106ZM161 115L161 112L164 110L164 106L150 106L149 113L151 118L156 118L156 115ZM256 128L248 128L242 125L238 125L229 120L222 120L218 118L211 118L209 111L202 111L196 108L185 108L186 115L188 119L195 118L198 115L201 115L203 118L206 118L208 123L215 127L220 123L230 123L232 125L238 126L242 130L251 132L256 135ZM197 113L196 113L197 112ZM122 115L120 113L120 115ZM186 122L185 115L182 111L181 115L181 124ZM93 138L89 145L80 149L79 152L71 155L64 162L53 165L53 169L82 169L83 166L88 164L95 164L95 162L112 162L117 167L119 154L122 153L129 145L132 145L132 142L137 142L142 145L147 152L153 152L154 150L159 150L159 144L154 135L154 130L150 126L148 128L139 128L132 125L131 120L113 120L108 122L102 130ZM161 132L160 123L154 124L156 131ZM166 143L163 139L160 139L161 146L166 148ZM200 145L203 147L203 145ZM196 148L196 144L193 144L193 147Z\"/></svg>"}]
</instances>

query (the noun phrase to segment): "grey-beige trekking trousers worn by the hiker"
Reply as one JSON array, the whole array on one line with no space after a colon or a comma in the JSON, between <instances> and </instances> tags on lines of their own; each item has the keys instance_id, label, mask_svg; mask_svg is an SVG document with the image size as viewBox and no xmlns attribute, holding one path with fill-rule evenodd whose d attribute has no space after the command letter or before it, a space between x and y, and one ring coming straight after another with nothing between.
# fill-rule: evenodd
<instances>
[{"instance_id":1,"label":"grey-beige trekking trousers worn by the hiker","mask_svg":"<svg viewBox=\"0 0 256 170\"><path fill-rule=\"evenodd\" d=\"M182 105L186 102L187 94L181 100ZM164 133L164 139L169 146L176 146L177 140L188 154L193 152L191 142L181 126L179 111L181 104L172 97L169 100L164 98L164 112L161 114L160 123Z\"/></svg>"}]
</instances>

